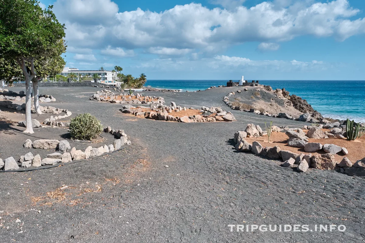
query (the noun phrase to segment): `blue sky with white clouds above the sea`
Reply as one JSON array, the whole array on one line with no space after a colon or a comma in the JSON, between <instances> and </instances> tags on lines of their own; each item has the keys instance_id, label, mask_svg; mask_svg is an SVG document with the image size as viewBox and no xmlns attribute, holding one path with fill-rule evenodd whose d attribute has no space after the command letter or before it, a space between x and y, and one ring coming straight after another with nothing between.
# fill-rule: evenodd
<instances>
[{"instance_id":1,"label":"blue sky with white clouds above the sea","mask_svg":"<svg viewBox=\"0 0 365 243\"><path fill-rule=\"evenodd\" d=\"M149 79L364 80L364 0L42 0L66 66Z\"/></svg>"}]
</instances>

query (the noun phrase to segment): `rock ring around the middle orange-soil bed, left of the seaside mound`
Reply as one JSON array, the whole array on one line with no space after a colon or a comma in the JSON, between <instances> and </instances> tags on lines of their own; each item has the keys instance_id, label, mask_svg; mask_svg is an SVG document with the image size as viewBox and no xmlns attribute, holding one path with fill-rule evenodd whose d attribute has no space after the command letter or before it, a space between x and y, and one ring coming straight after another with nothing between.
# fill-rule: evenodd
<instances>
[{"instance_id":1,"label":"rock ring around the middle orange-soil bed, left of the seaside mound","mask_svg":"<svg viewBox=\"0 0 365 243\"><path fill-rule=\"evenodd\" d=\"M137 109L131 109L137 108ZM186 108L181 106L176 106L175 102L171 102L170 106L163 104L155 105L150 104L151 111L142 111L143 106L134 107L132 105L123 105L122 113L132 114L132 115L143 115L147 119L160 120L160 121L176 121L176 122L216 122L216 121L236 121L236 118L229 111L224 111L220 107L201 107L201 110L193 109L192 107ZM185 115L182 117L169 115L172 111L178 112L181 110L196 110L198 112L203 112L202 115ZM207 114L204 114L207 113ZM209 113L209 114L208 114ZM214 117L211 115L216 113Z\"/></svg>"}]
</instances>

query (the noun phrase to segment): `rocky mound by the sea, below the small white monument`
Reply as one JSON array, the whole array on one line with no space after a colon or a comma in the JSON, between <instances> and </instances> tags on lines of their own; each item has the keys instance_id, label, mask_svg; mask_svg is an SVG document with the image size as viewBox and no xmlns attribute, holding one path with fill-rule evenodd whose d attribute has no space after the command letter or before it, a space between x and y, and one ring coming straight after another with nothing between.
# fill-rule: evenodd
<instances>
[{"instance_id":1,"label":"rocky mound by the sea, below the small white monument","mask_svg":"<svg viewBox=\"0 0 365 243\"><path fill-rule=\"evenodd\" d=\"M289 95L285 89L273 90L270 86L255 89L244 88L231 92L223 97L224 103L234 110L241 110L311 123L330 123L314 110L305 99L297 95Z\"/></svg>"}]
</instances>

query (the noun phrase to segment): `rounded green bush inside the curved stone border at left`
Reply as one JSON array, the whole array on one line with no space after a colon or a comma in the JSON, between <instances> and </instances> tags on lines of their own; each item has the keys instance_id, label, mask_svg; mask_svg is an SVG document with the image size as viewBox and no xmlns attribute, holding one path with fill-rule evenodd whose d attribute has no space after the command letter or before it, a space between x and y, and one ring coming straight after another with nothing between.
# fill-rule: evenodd
<instances>
[{"instance_id":1,"label":"rounded green bush inside the curved stone border at left","mask_svg":"<svg viewBox=\"0 0 365 243\"><path fill-rule=\"evenodd\" d=\"M79 114L70 122L71 137L78 140L91 140L103 132L101 122L89 113Z\"/></svg>"}]
</instances>

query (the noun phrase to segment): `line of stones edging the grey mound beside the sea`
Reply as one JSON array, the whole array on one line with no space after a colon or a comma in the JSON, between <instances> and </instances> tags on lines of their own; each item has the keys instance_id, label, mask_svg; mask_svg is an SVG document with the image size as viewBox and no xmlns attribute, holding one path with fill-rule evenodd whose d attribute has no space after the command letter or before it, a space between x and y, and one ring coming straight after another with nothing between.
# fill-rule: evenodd
<instances>
[{"instance_id":1,"label":"line of stones edging the grey mound beside the sea","mask_svg":"<svg viewBox=\"0 0 365 243\"><path fill-rule=\"evenodd\" d=\"M261 89L257 89L257 90L261 90ZM263 89L264 90L264 89ZM280 90L280 89L277 89ZM247 88L243 89L243 90L237 90L236 93L242 93L242 91L248 91ZM264 90L265 91L265 90ZM281 92L283 92L282 90L280 90ZM284 90L285 91L285 90ZM268 91L265 91L268 92ZM285 91L287 92L287 91ZM291 120L296 120L296 121L303 121L303 122L310 122L310 123L321 123L321 124L328 124L331 123L330 121L321 118L320 120L316 119L315 117L311 117L312 114L310 113L303 113L302 115L299 116L299 118L294 118L291 115L287 114L287 113L279 113L279 114L269 114L266 111L259 111L259 110L255 110L255 109L250 109L250 110L245 110L245 109L239 109L238 106L233 106L230 101L229 101L229 97L231 95L234 95L235 92L231 92L228 93L226 96L223 97L223 102L226 103L227 106L229 106L231 109L233 110L239 110L239 111L245 111L245 112L250 112L250 113L254 113L257 115L266 115L268 117L274 117L274 118L285 118L285 119L291 119ZM289 94L289 92L288 92ZM319 114L319 113L315 113L315 114Z\"/></svg>"}]
</instances>

